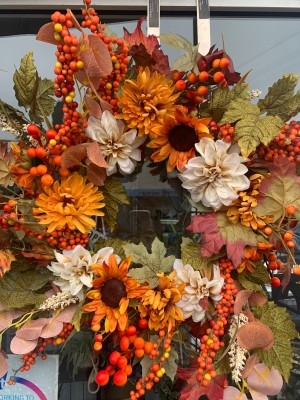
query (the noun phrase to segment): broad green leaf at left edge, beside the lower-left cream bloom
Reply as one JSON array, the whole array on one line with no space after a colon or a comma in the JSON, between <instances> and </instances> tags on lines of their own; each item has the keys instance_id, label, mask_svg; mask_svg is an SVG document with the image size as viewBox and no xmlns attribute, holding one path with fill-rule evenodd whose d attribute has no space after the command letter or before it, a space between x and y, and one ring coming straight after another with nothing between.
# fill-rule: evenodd
<instances>
[{"instance_id":1,"label":"broad green leaf at left edge, beside the lower-left cream bloom","mask_svg":"<svg viewBox=\"0 0 300 400\"><path fill-rule=\"evenodd\" d=\"M0 304L4 310L39 305L45 300L45 295L36 291L48 282L47 273L9 271L0 280Z\"/></svg>"}]
</instances>

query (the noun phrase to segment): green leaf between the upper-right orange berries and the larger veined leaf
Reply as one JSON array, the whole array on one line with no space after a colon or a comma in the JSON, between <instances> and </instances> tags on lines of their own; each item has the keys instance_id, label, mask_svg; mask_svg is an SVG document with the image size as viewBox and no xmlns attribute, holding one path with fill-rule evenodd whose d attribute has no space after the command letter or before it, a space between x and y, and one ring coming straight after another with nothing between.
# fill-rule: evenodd
<instances>
[{"instance_id":1,"label":"green leaf between the upper-right orange berries and the larger veined leaf","mask_svg":"<svg viewBox=\"0 0 300 400\"><path fill-rule=\"evenodd\" d=\"M238 83L233 89L228 86L225 88L218 87L213 90L211 100L203 103L201 115L203 117L210 116L214 121L218 122L227 111L230 102L237 99L249 99L248 84Z\"/></svg>"}]
</instances>

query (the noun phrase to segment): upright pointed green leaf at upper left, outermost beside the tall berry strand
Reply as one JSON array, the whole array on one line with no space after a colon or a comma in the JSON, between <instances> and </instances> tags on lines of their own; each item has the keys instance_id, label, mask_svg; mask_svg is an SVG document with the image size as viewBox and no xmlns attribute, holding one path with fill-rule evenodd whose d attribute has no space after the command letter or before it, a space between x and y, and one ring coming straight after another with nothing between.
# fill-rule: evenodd
<instances>
[{"instance_id":1,"label":"upright pointed green leaf at upper left, outermost beside the tall berry strand","mask_svg":"<svg viewBox=\"0 0 300 400\"><path fill-rule=\"evenodd\" d=\"M35 101L38 89L38 74L34 65L32 51L21 59L20 68L15 71L13 81L19 106L27 110Z\"/></svg>"}]
</instances>

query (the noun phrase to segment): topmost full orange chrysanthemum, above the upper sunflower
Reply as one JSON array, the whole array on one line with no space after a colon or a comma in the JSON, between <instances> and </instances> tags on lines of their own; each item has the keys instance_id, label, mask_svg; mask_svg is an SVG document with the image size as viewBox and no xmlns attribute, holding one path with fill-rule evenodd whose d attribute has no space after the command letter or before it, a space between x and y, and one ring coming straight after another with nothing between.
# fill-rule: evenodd
<instances>
[{"instance_id":1,"label":"topmost full orange chrysanthemum, above the upper sunflower","mask_svg":"<svg viewBox=\"0 0 300 400\"><path fill-rule=\"evenodd\" d=\"M174 93L173 81L146 67L141 68L135 80L127 79L118 96L123 119L129 128L137 128L138 135L148 134L154 123L162 123L163 117L173 115L175 101L180 93Z\"/></svg>"}]
</instances>

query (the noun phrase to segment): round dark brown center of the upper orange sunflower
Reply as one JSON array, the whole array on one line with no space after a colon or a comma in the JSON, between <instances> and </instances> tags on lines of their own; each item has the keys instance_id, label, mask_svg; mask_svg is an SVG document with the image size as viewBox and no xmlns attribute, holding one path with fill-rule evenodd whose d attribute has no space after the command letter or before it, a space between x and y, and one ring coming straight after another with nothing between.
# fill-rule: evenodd
<instances>
[{"instance_id":1,"label":"round dark brown center of the upper orange sunflower","mask_svg":"<svg viewBox=\"0 0 300 400\"><path fill-rule=\"evenodd\" d=\"M188 125L180 124L170 130L169 142L173 149L177 151L189 151L194 147L195 143L199 142L199 138L195 129Z\"/></svg>"}]
</instances>

